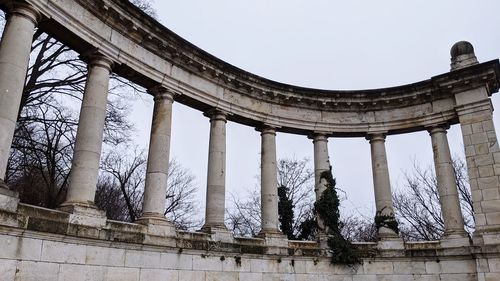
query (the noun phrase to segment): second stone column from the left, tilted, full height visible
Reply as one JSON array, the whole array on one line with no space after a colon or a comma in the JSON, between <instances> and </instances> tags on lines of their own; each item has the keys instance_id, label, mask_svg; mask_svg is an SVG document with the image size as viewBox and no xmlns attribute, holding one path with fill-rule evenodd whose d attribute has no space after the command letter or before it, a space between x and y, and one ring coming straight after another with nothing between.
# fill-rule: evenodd
<instances>
[{"instance_id":1,"label":"second stone column from the left, tilted, full height visible","mask_svg":"<svg viewBox=\"0 0 500 281\"><path fill-rule=\"evenodd\" d=\"M112 61L102 55L90 58L87 82L80 110L73 163L66 201L61 209L85 212L94 205L104 119Z\"/></svg>"}]
</instances>

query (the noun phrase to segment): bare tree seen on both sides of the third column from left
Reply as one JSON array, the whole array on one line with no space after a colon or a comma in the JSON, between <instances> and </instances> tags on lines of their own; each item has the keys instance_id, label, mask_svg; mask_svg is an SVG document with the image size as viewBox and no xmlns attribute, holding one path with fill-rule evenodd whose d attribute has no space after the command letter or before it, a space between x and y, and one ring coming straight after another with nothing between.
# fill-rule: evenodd
<instances>
[{"instance_id":1,"label":"bare tree seen on both sides of the third column from left","mask_svg":"<svg viewBox=\"0 0 500 281\"><path fill-rule=\"evenodd\" d=\"M124 151L133 151L127 155ZM120 149L108 152L101 163L95 202L108 218L135 221L142 214L147 160L143 151ZM169 164L164 215L179 229L201 225L196 216L195 178L177 161Z\"/></svg>"}]
</instances>

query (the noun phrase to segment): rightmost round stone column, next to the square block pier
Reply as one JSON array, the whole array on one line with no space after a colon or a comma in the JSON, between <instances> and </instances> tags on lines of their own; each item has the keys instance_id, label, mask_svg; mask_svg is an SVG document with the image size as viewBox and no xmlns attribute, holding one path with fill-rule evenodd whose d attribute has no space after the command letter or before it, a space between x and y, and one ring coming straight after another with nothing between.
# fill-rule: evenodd
<instances>
[{"instance_id":1,"label":"rightmost round stone column, next to the square block pier","mask_svg":"<svg viewBox=\"0 0 500 281\"><path fill-rule=\"evenodd\" d=\"M446 129L443 126L433 127L429 129L429 134L432 140L439 201L445 226L444 238L466 237Z\"/></svg>"}]
</instances>

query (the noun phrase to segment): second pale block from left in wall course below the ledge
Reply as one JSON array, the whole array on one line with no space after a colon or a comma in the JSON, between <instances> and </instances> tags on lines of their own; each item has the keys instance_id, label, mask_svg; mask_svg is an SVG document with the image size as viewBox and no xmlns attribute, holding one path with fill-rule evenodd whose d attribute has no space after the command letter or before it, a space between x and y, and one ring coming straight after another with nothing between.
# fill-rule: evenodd
<instances>
[{"instance_id":1,"label":"second pale block from left in wall course below the ledge","mask_svg":"<svg viewBox=\"0 0 500 281\"><path fill-rule=\"evenodd\" d=\"M85 245L64 242L43 241L42 261L84 264L87 249Z\"/></svg>"}]
</instances>

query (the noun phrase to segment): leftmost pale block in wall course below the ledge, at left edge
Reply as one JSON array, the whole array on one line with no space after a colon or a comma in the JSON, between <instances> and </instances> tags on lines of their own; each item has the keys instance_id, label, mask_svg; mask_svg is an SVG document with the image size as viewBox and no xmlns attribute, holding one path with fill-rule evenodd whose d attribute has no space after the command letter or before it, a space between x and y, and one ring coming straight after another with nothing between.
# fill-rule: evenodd
<instances>
[{"instance_id":1,"label":"leftmost pale block in wall course below the ledge, at left edge","mask_svg":"<svg viewBox=\"0 0 500 281\"><path fill-rule=\"evenodd\" d=\"M42 240L0 235L0 258L39 261Z\"/></svg>"}]
</instances>

